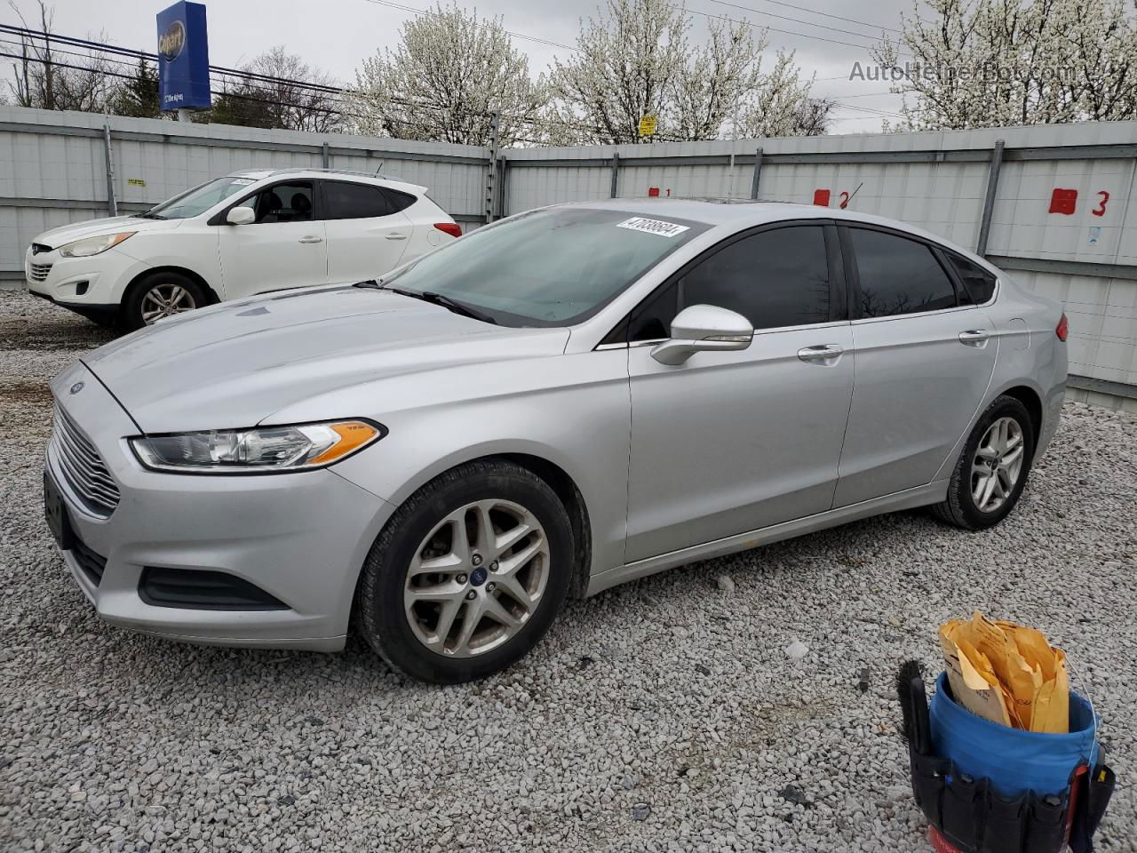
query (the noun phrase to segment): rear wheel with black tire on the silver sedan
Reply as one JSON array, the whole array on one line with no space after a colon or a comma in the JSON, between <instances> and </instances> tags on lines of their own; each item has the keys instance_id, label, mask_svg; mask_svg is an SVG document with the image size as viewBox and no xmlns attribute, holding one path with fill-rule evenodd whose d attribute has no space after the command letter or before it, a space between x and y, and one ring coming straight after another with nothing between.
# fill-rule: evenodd
<instances>
[{"instance_id":1,"label":"rear wheel with black tire on the silver sedan","mask_svg":"<svg viewBox=\"0 0 1137 853\"><path fill-rule=\"evenodd\" d=\"M1004 441L1004 449L999 450L998 429L1003 424L1007 425L1007 440ZM1019 447L1020 455L1013 456ZM933 506L932 513L964 530L982 530L998 524L1019 503L1034 455L1035 432L1027 407L1014 397L997 397L976 422L952 471L947 499ZM1021 463L1015 469L1013 459L1020 458ZM989 491L980 490L977 497L978 487L986 487L991 477L984 475L982 465L996 471L995 482ZM998 473L1001 470L1003 473Z\"/></svg>"}]
</instances>

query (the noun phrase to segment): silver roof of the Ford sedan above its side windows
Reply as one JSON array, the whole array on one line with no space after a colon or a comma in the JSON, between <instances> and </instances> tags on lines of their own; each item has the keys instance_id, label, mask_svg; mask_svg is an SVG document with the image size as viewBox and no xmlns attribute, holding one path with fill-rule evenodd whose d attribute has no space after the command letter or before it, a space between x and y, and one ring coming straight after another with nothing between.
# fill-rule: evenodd
<instances>
[{"instance_id":1,"label":"silver roof of the Ford sedan above its side windows","mask_svg":"<svg viewBox=\"0 0 1137 853\"><path fill-rule=\"evenodd\" d=\"M931 240L956 251L972 257L968 249L956 246L951 240L930 231L924 231L906 222L890 220L887 216L841 210L819 205L795 201L750 201L747 199L682 199L682 198L637 198L605 199L601 201L574 201L565 207L604 208L625 210L637 216L667 217L690 220L705 225L724 226L732 230L766 225L787 220L836 220L848 223L882 225L896 231L904 231L915 237Z\"/></svg>"}]
</instances>

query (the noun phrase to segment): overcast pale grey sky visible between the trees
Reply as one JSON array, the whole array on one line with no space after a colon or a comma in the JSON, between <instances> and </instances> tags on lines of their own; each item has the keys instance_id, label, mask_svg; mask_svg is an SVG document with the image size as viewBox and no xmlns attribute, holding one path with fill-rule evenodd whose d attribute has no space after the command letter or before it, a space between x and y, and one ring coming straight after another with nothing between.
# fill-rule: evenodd
<instances>
[{"instance_id":1,"label":"overcast pale grey sky visible between the trees","mask_svg":"<svg viewBox=\"0 0 1137 853\"><path fill-rule=\"evenodd\" d=\"M15 2L32 25L34 0ZM101 34L102 41L110 44L153 51L157 42L155 15L169 2L53 0L55 28L61 35L98 38ZM459 0L459 6L476 8L481 16L501 17L505 28L517 35L573 44L578 20L596 15L603 2ZM283 44L340 82L351 83L355 68L365 57L398 42L399 27L415 17L407 8L433 8L429 0L396 0L395 5L405 8L392 8L379 0L206 0L209 60L232 68L275 44ZM0 20L18 25L10 7L0 9ZM871 5L854 5L847 0L688 0L687 9L694 19L692 40L704 38L707 15L727 16L748 20L758 28L769 27L771 55L783 47L796 50L803 74L816 75L814 92L841 103L835 114L839 121L832 125L833 133L879 131L880 111L895 114L901 105L899 96L888 93L887 83L850 81L849 73L856 61L871 63L868 47L880 38L881 27L899 28L901 13L911 15L912 0L877 0ZM534 74L548 67L555 57L571 53L564 48L516 36L514 44L529 55Z\"/></svg>"}]
</instances>

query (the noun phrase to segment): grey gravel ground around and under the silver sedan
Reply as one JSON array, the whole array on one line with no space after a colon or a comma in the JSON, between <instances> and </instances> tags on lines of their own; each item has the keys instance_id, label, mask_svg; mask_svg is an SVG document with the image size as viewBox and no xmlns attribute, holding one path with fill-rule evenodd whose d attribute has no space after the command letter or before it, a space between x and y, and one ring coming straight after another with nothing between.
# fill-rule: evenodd
<instances>
[{"instance_id":1,"label":"grey gravel ground around and under the silver sedan","mask_svg":"<svg viewBox=\"0 0 1137 853\"><path fill-rule=\"evenodd\" d=\"M929 850L893 672L937 670L936 627L980 608L1068 651L1121 780L1099 848L1137 851L1131 415L1069 405L994 531L901 513L675 570L438 688L358 641L194 648L94 618L40 459L48 379L108 337L0 292L0 850Z\"/></svg>"}]
</instances>

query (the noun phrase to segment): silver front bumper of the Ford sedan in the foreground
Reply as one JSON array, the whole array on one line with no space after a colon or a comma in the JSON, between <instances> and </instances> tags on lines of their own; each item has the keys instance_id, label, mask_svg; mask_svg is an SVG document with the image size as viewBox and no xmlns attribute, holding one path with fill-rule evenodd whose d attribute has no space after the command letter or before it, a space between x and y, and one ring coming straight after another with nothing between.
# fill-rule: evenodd
<instances>
[{"instance_id":1,"label":"silver front bumper of the Ford sedan in the foreground","mask_svg":"<svg viewBox=\"0 0 1137 853\"><path fill-rule=\"evenodd\" d=\"M83 388L70 394L77 382ZM392 512L330 470L255 477L163 474L134 458L140 430L99 380L76 364L52 382L57 401L98 449L119 499L109 517L84 508L52 440L47 474L70 528L106 560L101 579L85 554L64 560L103 620L171 639L227 646L337 651L343 646L359 569ZM282 610L153 606L146 568L224 572L280 599Z\"/></svg>"}]
</instances>

